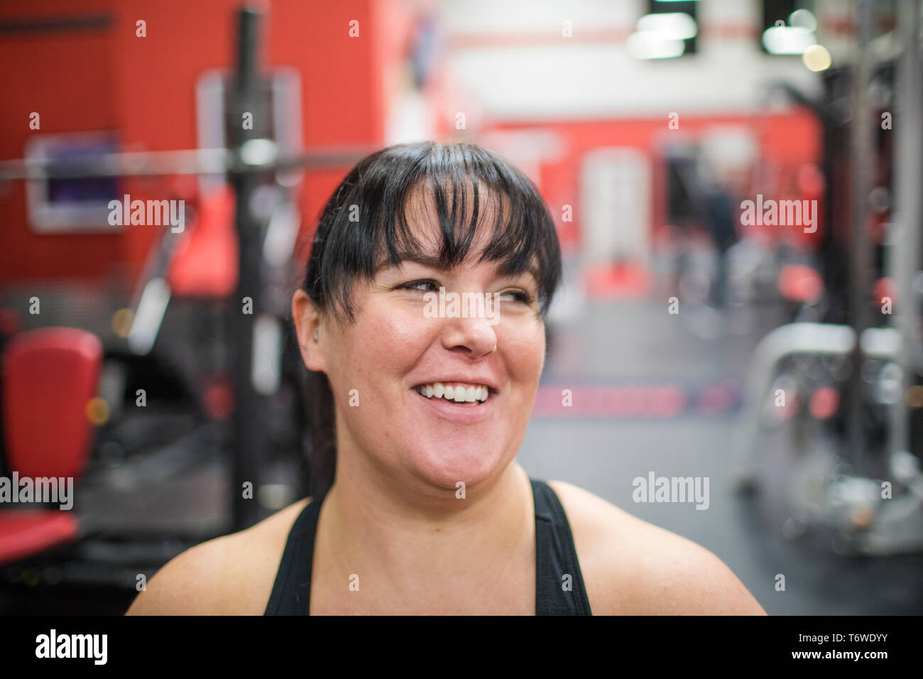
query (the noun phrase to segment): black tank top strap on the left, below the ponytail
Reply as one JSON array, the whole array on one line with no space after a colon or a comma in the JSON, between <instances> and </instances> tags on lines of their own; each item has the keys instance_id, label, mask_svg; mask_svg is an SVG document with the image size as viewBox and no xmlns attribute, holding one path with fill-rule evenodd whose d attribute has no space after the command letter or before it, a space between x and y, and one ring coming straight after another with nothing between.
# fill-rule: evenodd
<instances>
[{"instance_id":1,"label":"black tank top strap on the left, below the ponytail","mask_svg":"<svg viewBox=\"0 0 923 679\"><path fill-rule=\"evenodd\" d=\"M264 615L309 614L314 537L325 497L326 493L311 500L294 520Z\"/></svg>"}]
</instances>

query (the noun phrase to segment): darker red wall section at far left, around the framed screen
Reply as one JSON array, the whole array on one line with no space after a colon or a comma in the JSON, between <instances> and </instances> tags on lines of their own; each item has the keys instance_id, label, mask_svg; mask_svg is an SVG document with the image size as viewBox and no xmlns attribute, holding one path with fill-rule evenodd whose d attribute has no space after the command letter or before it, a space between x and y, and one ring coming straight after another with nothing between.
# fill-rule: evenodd
<instances>
[{"instance_id":1,"label":"darker red wall section at far left, around the framed screen","mask_svg":"<svg viewBox=\"0 0 923 679\"><path fill-rule=\"evenodd\" d=\"M112 2L0 5L0 21L109 12ZM22 31L0 40L0 158L21 158L31 135L113 129L119 124L111 30ZM30 130L30 113L41 130ZM120 259L111 235L37 235L26 224L23 182L0 187L0 281L102 273Z\"/></svg>"}]
</instances>

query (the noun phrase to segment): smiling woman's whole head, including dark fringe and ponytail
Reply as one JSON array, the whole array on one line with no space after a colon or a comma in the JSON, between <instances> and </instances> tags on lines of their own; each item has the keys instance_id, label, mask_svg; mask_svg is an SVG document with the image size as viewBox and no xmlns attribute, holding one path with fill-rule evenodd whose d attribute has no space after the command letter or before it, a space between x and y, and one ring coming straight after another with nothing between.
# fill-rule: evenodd
<instances>
[{"instance_id":1,"label":"smiling woman's whole head, including dark fringe and ponytail","mask_svg":"<svg viewBox=\"0 0 923 679\"><path fill-rule=\"evenodd\" d=\"M407 144L358 164L322 213L305 290L293 304L296 324L302 320L320 333L319 346L308 343L305 352L313 370L312 421L319 425L312 437L314 494L332 483L334 461L351 464L352 449L343 449L345 440L338 442L339 450L334 447L334 430L350 439L368 437L360 447L369 455L393 455L382 464L407 471L416 466L414 477L438 474L438 482L452 491L456 482L472 486L484 480L471 476L472 464L490 474L500 456L509 462L541 375L542 317L560 271L557 233L545 202L527 177L496 155L467 144ZM430 318L427 302L440 288L496 294L503 321ZM310 335L298 330L299 336ZM331 353L334 344L338 351ZM314 346L319 351L312 352ZM441 400L422 410L426 404L416 403L415 387L431 384L435 394L437 382L443 385ZM460 385L465 403L468 387L487 388L491 398L483 412L446 410ZM351 389L358 391L360 404L366 396L364 405L349 406ZM335 418L332 409L325 411L333 404L339 406ZM420 418L417 409L443 417ZM470 422L488 411L495 421L491 427L453 428L445 421ZM399 450L384 449L386 433L370 426L375 423L408 434L416 430L415 441L407 442L414 443L411 450L403 442L395 442Z\"/></svg>"}]
</instances>

